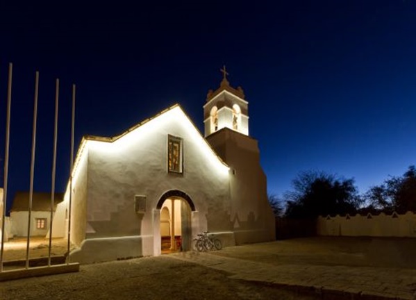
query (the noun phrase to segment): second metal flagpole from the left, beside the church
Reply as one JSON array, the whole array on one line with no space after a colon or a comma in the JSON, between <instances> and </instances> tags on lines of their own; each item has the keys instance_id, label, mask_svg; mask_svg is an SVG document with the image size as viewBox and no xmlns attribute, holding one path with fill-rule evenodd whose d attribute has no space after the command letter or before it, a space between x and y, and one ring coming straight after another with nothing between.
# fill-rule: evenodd
<instances>
[{"instance_id":1,"label":"second metal flagpole from the left, beside the church","mask_svg":"<svg viewBox=\"0 0 416 300\"><path fill-rule=\"evenodd\" d=\"M31 240L31 215L33 201L33 175L35 171L35 148L36 148L36 120L38 118L38 91L39 91L39 72L35 75L35 104L33 107L33 133L32 133L32 158L31 158L31 186L29 190L29 208L28 208L28 236L26 243L26 269L29 267L29 246Z\"/></svg>"}]
</instances>

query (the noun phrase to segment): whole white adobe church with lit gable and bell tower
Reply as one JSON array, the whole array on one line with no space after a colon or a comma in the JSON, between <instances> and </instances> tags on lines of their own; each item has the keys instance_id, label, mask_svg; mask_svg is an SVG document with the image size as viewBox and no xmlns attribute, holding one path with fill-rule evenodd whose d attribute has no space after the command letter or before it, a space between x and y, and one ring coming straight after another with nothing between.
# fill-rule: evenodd
<instances>
[{"instance_id":1,"label":"whole white adobe church with lit gable and bell tower","mask_svg":"<svg viewBox=\"0 0 416 300\"><path fill-rule=\"evenodd\" d=\"M71 262L188 251L203 231L223 247L275 239L248 102L223 72L203 105L204 136L175 105L121 135L83 137L52 231L70 228Z\"/></svg>"}]
</instances>

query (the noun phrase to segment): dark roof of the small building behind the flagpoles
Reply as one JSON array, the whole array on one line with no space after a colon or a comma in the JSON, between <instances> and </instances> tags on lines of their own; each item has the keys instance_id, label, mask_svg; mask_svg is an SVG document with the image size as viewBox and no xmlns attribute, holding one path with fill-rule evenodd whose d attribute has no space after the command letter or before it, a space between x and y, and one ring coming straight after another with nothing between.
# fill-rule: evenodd
<instances>
[{"instance_id":1,"label":"dark roof of the small building behind the flagpoles","mask_svg":"<svg viewBox=\"0 0 416 300\"><path fill-rule=\"evenodd\" d=\"M56 205L63 201L63 193L55 193L53 211L56 210ZM13 199L12 208L10 212L28 211L29 207L29 192L16 192ZM33 192L32 197L32 211L49 211L51 210L51 193L50 192Z\"/></svg>"}]
</instances>

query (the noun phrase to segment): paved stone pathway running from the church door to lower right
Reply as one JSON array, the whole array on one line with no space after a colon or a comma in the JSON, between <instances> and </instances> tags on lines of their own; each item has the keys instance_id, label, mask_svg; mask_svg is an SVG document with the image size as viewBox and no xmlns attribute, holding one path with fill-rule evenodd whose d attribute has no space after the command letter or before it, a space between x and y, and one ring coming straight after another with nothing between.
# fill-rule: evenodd
<instances>
[{"instance_id":1,"label":"paved stone pathway running from the church door to lower right","mask_svg":"<svg viewBox=\"0 0 416 300\"><path fill-rule=\"evenodd\" d=\"M416 299L416 269L274 265L224 257L215 252L185 252L171 256L228 272L231 278L327 294L324 299L335 299L337 295L336 299Z\"/></svg>"}]
</instances>

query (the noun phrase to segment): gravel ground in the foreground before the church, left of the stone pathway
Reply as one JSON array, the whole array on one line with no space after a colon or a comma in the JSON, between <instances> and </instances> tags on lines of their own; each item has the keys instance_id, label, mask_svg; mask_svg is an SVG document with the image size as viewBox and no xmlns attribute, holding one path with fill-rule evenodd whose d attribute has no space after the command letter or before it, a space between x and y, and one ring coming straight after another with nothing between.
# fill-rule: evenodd
<instances>
[{"instance_id":1,"label":"gravel ground in the foreground before the church, left of the stone pathway","mask_svg":"<svg viewBox=\"0 0 416 300\"><path fill-rule=\"evenodd\" d=\"M0 299L320 299L169 256L83 265L79 273L0 283Z\"/></svg>"}]
</instances>

